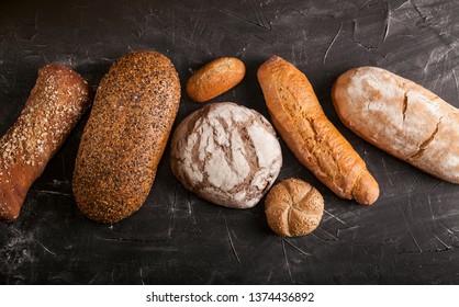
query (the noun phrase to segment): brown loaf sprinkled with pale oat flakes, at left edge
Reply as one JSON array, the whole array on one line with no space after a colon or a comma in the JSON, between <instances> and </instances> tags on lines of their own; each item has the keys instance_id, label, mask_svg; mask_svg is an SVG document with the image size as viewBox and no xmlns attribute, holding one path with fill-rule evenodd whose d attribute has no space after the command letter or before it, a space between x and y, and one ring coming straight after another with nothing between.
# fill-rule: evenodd
<instances>
[{"instance_id":1,"label":"brown loaf sprinkled with pale oat flakes, at left edge","mask_svg":"<svg viewBox=\"0 0 459 307\"><path fill-rule=\"evenodd\" d=\"M0 139L0 219L18 218L32 183L90 106L88 83L74 70L46 65L18 121Z\"/></svg>"}]
</instances>

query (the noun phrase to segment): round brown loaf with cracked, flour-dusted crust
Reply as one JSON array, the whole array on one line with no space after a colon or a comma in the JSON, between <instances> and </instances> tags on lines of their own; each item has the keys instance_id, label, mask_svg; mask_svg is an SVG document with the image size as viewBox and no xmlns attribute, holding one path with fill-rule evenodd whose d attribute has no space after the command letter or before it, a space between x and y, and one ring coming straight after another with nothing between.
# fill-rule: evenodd
<instances>
[{"instance_id":1,"label":"round brown loaf with cracked, flour-dusted crust","mask_svg":"<svg viewBox=\"0 0 459 307\"><path fill-rule=\"evenodd\" d=\"M210 103L188 115L171 140L170 166L186 189L211 203L255 206L279 174L276 133L258 112Z\"/></svg>"}]
</instances>

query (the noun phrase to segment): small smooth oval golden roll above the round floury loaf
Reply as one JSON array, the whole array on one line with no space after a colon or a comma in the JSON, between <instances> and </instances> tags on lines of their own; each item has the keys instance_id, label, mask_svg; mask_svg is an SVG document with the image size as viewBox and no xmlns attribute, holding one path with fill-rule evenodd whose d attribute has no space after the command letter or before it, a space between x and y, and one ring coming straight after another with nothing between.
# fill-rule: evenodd
<instances>
[{"instance_id":1,"label":"small smooth oval golden roll above the round floury loaf","mask_svg":"<svg viewBox=\"0 0 459 307\"><path fill-rule=\"evenodd\" d=\"M215 59L195 71L187 82L188 96L195 102L211 100L236 87L246 73L244 62L234 57Z\"/></svg>"}]
</instances>

